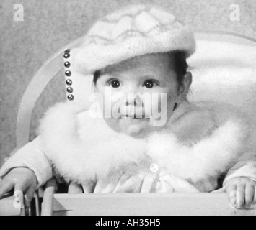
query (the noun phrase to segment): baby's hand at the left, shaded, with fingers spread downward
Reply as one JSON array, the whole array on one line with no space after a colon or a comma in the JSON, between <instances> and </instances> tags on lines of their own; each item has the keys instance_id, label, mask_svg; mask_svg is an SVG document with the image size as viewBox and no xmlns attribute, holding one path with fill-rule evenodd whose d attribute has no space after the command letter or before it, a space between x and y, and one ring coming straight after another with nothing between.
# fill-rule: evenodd
<instances>
[{"instance_id":1,"label":"baby's hand at the left, shaded, with fingers spread downward","mask_svg":"<svg viewBox=\"0 0 256 230\"><path fill-rule=\"evenodd\" d=\"M0 198L14 188L25 194L25 206L30 206L37 188L35 173L26 167L17 167L11 170L3 180L0 181Z\"/></svg>"}]
</instances>

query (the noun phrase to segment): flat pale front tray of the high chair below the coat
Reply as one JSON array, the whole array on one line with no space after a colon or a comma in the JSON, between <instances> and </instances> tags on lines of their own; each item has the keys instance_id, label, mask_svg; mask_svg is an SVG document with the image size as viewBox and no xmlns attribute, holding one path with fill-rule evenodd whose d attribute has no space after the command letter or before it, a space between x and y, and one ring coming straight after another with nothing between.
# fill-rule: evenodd
<instances>
[{"instance_id":1,"label":"flat pale front tray of the high chair below the coat","mask_svg":"<svg viewBox=\"0 0 256 230\"><path fill-rule=\"evenodd\" d=\"M253 208L231 208L224 193L54 194L49 211L53 216L256 216Z\"/></svg>"}]
</instances>

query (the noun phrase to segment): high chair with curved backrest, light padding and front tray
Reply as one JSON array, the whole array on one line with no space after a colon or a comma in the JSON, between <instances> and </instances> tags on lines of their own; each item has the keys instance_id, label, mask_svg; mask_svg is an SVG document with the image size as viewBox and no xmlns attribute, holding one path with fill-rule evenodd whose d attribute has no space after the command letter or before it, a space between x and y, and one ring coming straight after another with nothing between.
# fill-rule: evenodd
<instances>
[{"instance_id":1,"label":"high chair with curved backrest, light padding and front tray","mask_svg":"<svg viewBox=\"0 0 256 230\"><path fill-rule=\"evenodd\" d=\"M256 40L216 31L197 32L195 38L197 51L188 60L193 73L189 100L214 100L234 104L251 117L256 135ZM67 100L89 108L90 101L84 98L89 98L92 92L92 76L84 77L70 65L70 50L79 47L82 40L83 37L56 52L32 78L19 106L17 149L30 140L30 120L37 98L63 68ZM0 201L0 215L12 209L11 199ZM41 208L39 206L37 200L37 212ZM20 212L16 210L14 214ZM256 208L232 208L224 193L56 194L56 180L52 179L45 185L41 214L256 216Z\"/></svg>"}]
</instances>

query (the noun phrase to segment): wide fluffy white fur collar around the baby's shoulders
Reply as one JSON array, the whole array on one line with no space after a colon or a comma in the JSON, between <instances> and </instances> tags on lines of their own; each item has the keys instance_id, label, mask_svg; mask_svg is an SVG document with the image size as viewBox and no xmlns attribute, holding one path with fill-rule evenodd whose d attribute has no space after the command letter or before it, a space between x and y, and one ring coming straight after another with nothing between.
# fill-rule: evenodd
<instances>
[{"instance_id":1,"label":"wide fluffy white fur collar around the baby's shoulders","mask_svg":"<svg viewBox=\"0 0 256 230\"><path fill-rule=\"evenodd\" d=\"M194 182L226 172L245 151L247 123L226 106L183 103L166 129L135 139L70 103L45 114L39 134L45 154L67 181L84 183L151 159L172 175Z\"/></svg>"}]
</instances>

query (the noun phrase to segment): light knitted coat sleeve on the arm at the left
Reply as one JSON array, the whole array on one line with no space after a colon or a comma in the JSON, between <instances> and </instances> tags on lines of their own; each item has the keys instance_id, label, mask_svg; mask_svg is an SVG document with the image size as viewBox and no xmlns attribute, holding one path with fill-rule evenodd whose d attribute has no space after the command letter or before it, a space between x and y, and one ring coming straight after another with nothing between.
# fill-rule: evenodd
<instances>
[{"instance_id":1,"label":"light knitted coat sleeve on the arm at the left","mask_svg":"<svg viewBox=\"0 0 256 230\"><path fill-rule=\"evenodd\" d=\"M7 160L0 170L0 178L3 178L14 167L28 167L35 172L38 187L44 185L47 180L52 178L53 170L45 155L40 136L32 142L25 144L17 150L12 157Z\"/></svg>"}]
</instances>

